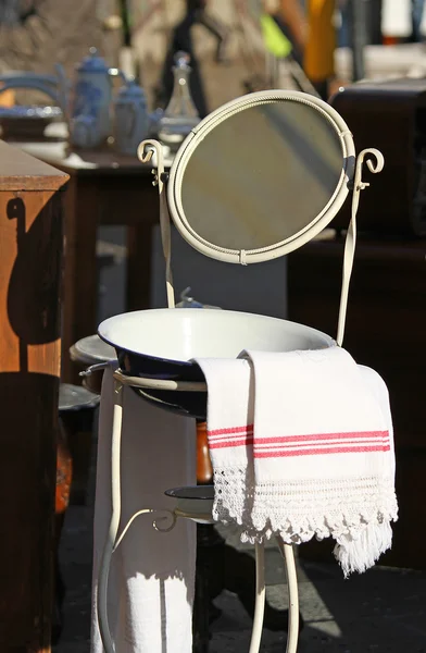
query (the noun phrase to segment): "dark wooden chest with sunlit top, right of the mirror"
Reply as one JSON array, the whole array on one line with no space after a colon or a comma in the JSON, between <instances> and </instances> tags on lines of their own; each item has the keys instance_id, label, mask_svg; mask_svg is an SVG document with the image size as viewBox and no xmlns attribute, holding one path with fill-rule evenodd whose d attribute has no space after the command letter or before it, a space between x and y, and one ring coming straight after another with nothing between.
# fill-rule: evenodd
<instances>
[{"instance_id":1,"label":"dark wooden chest with sunlit top, right of the mirror","mask_svg":"<svg viewBox=\"0 0 426 653\"><path fill-rule=\"evenodd\" d=\"M360 231L401 237L426 235L426 82L360 82L330 99L356 145L374 145L386 167L365 196ZM368 181L368 175L366 175ZM350 207L334 226L346 229Z\"/></svg>"}]
</instances>

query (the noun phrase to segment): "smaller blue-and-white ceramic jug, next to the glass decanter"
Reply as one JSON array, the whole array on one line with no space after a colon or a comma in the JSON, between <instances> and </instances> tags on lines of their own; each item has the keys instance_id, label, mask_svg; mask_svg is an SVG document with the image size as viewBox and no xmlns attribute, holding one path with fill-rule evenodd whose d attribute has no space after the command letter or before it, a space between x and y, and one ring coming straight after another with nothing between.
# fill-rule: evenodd
<instances>
[{"instance_id":1,"label":"smaller blue-and-white ceramic jug, next to the glass decanter","mask_svg":"<svg viewBox=\"0 0 426 653\"><path fill-rule=\"evenodd\" d=\"M150 118L143 89L127 79L114 101L115 149L122 155L135 156L139 144L147 138Z\"/></svg>"}]
</instances>

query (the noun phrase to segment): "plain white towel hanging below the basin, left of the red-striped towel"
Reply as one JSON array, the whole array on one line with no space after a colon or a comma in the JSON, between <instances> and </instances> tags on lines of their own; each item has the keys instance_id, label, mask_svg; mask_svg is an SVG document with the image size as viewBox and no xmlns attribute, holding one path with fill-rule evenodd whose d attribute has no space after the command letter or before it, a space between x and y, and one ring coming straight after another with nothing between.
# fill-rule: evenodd
<instances>
[{"instance_id":1,"label":"plain white towel hanging below the basin, left of the red-striped towel","mask_svg":"<svg viewBox=\"0 0 426 653\"><path fill-rule=\"evenodd\" d=\"M91 653L102 653L96 607L100 556L111 515L112 371L104 373L95 505ZM172 508L164 490L196 482L195 421L152 407L124 390L122 521L145 507ZM168 533L138 517L113 554L110 629L117 653L191 653L196 525L178 519Z\"/></svg>"}]
</instances>

